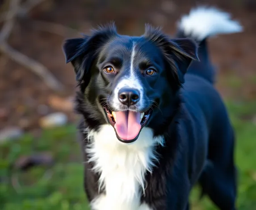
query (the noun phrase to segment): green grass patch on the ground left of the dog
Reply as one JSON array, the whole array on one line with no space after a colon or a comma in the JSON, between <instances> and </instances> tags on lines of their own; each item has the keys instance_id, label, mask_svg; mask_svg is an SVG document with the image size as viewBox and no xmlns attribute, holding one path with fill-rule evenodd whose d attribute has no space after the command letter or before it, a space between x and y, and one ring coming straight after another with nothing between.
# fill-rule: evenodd
<instances>
[{"instance_id":1,"label":"green grass patch on the ground left of the dog","mask_svg":"<svg viewBox=\"0 0 256 210\"><path fill-rule=\"evenodd\" d=\"M34 139L25 135L0 147L1 210L86 210L83 166L75 126L45 130ZM50 151L55 159L51 168L33 167L20 172L12 163L23 155ZM17 182L12 179L17 178ZM14 186L14 187L13 187Z\"/></svg>"}]
</instances>

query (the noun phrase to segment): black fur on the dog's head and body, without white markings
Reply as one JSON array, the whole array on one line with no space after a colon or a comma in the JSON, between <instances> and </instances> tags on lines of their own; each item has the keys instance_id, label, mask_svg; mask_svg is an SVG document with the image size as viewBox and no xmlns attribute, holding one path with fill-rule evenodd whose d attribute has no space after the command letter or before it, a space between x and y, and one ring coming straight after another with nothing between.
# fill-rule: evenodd
<instances>
[{"instance_id":1,"label":"black fur on the dog's head and body, without white markings","mask_svg":"<svg viewBox=\"0 0 256 210\"><path fill-rule=\"evenodd\" d=\"M152 210L189 209L189 192L199 182L203 193L221 210L235 210L234 133L213 86L207 40L198 43L198 56L193 40L182 34L171 39L148 25L145 34L139 37L121 36L110 25L91 36L67 40L63 47L66 60L74 66L80 85L76 110L83 116L79 126L82 148L88 144L86 128L97 130L108 122L101 98L108 98L116 82L126 74L124 66L130 59L134 40L140 52L137 59L156 62L159 68L157 77L141 77L146 96L157 99L159 107L147 126L165 140L164 147L155 148L159 162L152 174L146 174L147 188L141 202ZM121 56L120 60L110 57L115 55ZM108 59L114 60L111 62L119 69L115 76L101 71ZM83 153L87 161L84 149ZM99 177L91 170L92 163L84 165L85 191L92 201L98 195Z\"/></svg>"}]
</instances>

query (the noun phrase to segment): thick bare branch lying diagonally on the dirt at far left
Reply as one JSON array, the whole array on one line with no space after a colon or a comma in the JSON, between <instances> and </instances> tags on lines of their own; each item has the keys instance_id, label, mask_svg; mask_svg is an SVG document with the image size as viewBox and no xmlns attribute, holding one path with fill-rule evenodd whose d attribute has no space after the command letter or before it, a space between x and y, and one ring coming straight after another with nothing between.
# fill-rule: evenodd
<instances>
[{"instance_id":1,"label":"thick bare branch lying diagonally on the dirt at far left","mask_svg":"<svg viewBox=\"0 0 256 210\"><path fill-rule=\"evenodd\" d=\"M32 72L41 77L46 85L48 85L48 87L51 89L54 89L55 91L63 90L63 85L55 78L52 73L50 73L50 71L48 71L44 65L34 61L21 52L16 51L5 42L0 44L0 50L7 54L8 57L10 57L13 61L16 61L17 63L27 67Z\"/></svg>"}]
</instances>

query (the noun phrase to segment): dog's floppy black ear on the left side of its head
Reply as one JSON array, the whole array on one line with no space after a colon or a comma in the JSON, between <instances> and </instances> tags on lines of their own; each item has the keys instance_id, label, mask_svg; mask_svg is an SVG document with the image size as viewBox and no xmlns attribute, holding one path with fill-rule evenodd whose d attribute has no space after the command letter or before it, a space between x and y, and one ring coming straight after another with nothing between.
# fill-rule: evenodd
<instances>
[{"instance_id":1,"label":"dog's floppy black ear on the left side of its head","mask_svg":"<svg viewBox=\"0 0 256 210\"><path fill-rule=\"evenodd\" d=\"M99 49L113 36L117 35L114 24L100 27L92 31L91 36L68 39L63 44L63 52L66 63L71 62L76 73L76 80L85 86L88 85L90 69L93 61L97 58Z\"/></svg>"}]
</instances>

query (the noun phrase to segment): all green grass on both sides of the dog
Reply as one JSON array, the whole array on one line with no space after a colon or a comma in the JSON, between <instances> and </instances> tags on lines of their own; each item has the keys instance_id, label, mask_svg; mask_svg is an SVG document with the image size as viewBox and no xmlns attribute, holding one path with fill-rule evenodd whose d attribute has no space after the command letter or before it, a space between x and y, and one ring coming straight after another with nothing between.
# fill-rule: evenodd
<instances>
[{"instance_id":1,"label":"all green grass on both sides of the dog","mask_svg":"<svg viewBox=\"0 0 256 210\"><path fill-rule=\"evenodd\" d=\"M256 102L227 103L236 130L235 159L239 169L239 210L256 209L256 124L252 116ZM254 116L255 117L255 116ZM256 123L256 122L255 122ZM73 125L45 130L39 139L27 134L19 141L0 145L1 210L88 210L83 191L83 166ZM42 151L53 153L50 169L34 167L20 173L9 170L21 155ZM11 182L18 177L20 186ZM13 187L15 186L15 187ZM193 210L214 210L208 198L198 200L198 189L191 195Z\"/></svg>"}]
</instances>

